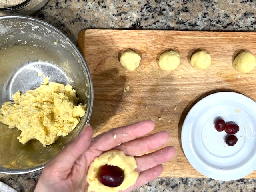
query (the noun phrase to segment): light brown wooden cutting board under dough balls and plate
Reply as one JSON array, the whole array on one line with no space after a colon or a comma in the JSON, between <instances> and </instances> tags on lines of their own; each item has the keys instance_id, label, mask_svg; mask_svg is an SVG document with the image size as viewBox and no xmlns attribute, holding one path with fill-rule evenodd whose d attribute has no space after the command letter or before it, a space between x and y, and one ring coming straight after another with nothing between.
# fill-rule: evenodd
<instances>
[{"instance_id":1,"label":"light brown wooden cutting board under dough balls and plate","mask_svg":"<svg viewBox=\"0 0 256 192\"><path fill-rule=\"evenodd\" d=\"M241 50L256 54L253 32L88 29L80 32L78 47L94 84L90 124L95 135L154 119L154 132L168 130L170 141L166 146L176 148L176 156L164 164L163 177L204 177L186 159L180 138L186 114L196 102L220 91L239 92L256 101L256 68L240 74L232 67ZM127 49L142 58L133 72L119 63ZM181 61L176 70L167 72L159 68L158 59L170 49L180 53ZM190 57L198 49L212 57L212 65L206 70L190 66ZM129 92L124 92L126 86L130 86ZM256 172L246 178L256 178Z\"/></svg>"}]
</instances>

